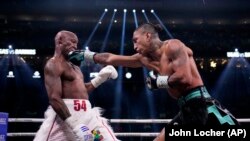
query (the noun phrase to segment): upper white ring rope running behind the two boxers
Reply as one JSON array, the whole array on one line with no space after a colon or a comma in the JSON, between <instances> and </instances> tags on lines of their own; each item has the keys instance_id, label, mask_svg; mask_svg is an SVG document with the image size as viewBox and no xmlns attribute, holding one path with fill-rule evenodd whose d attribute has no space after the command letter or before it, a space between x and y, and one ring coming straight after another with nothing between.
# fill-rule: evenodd
<instances>
[{"instance_id":1,"label":"upper white ring rope running behind the two boxers","mask_svg":"<svg viewBox=\"0 0 250 141\"><path fill-rule=\"evenodd\" d=\"M239 122L250 122L250 118L237 119ZM9 118L9 122L43 122L42 118ZM171 119L110 119L111 123L169 123Z\"/></svg>"}]
</instances>

